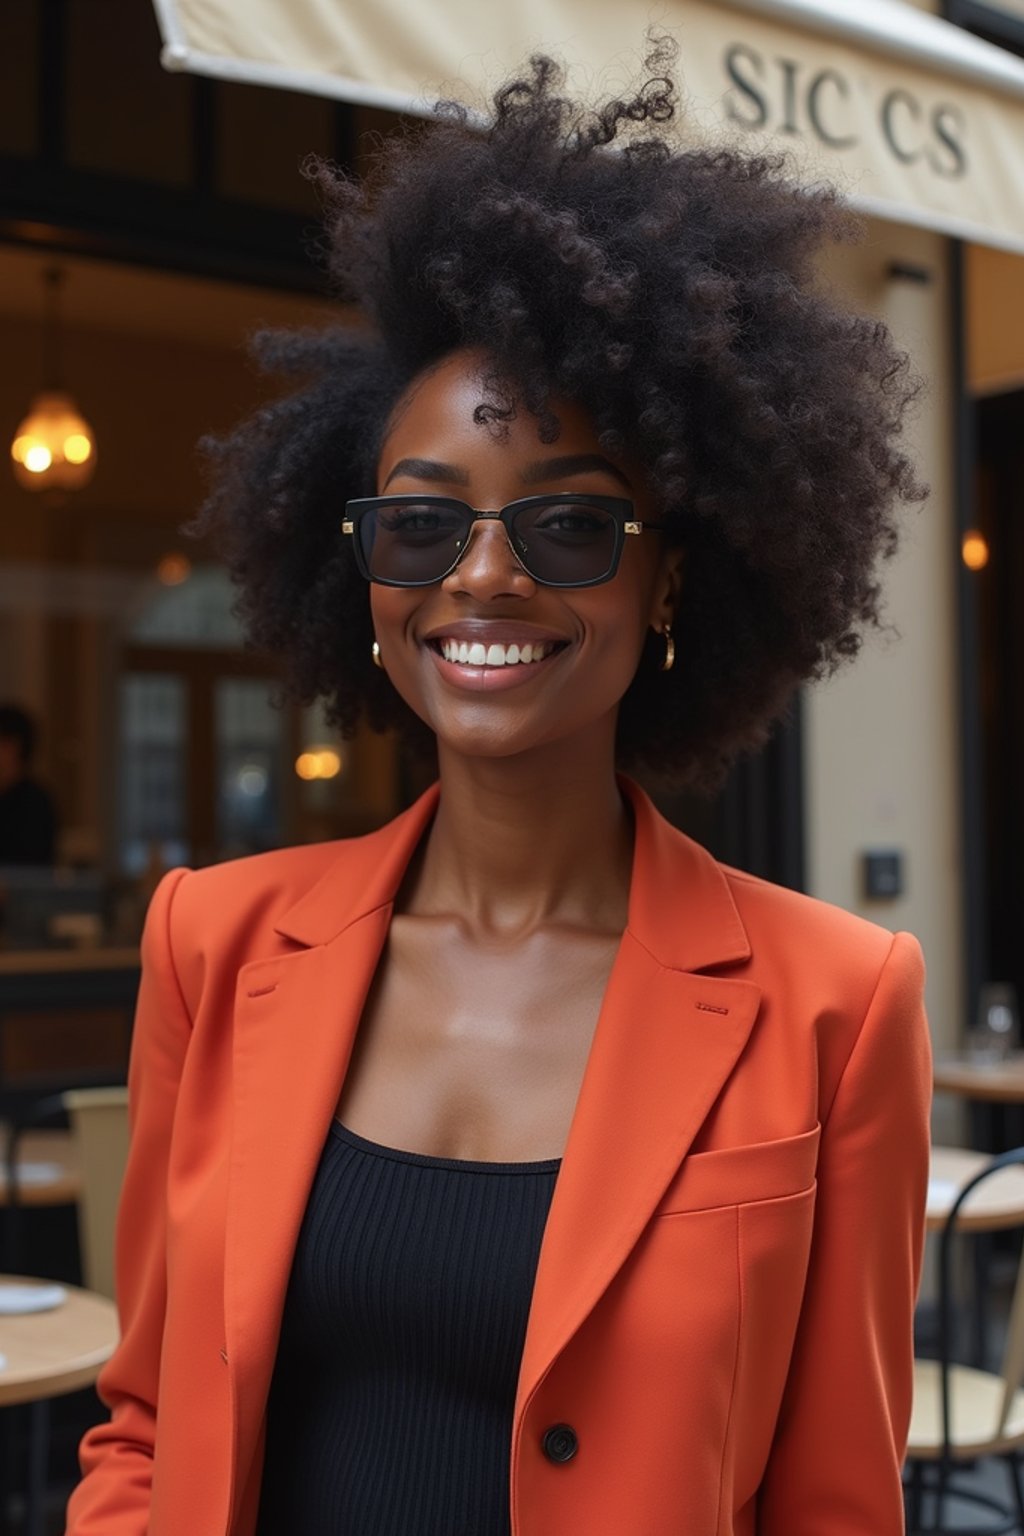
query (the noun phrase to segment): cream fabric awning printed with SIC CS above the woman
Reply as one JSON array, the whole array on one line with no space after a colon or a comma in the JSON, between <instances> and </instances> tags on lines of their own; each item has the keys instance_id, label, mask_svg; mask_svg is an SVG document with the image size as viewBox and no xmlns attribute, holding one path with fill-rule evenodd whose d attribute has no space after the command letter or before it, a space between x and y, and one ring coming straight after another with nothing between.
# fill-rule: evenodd
<instances>
[{"instance_id":1,"label":"cream fabric awning printed with SIC CS above the woman","mask_svg":"<svg viewBox=\"0 0 1024 1536\"><path fill-rule=\"evenodd\" d=\"M679 37L703 135L778 144L867 214L1024 253L1024 60L903 0L155 0L167 69L425 114L531 52L622 89Z\"/></svg>"}]
</instances>

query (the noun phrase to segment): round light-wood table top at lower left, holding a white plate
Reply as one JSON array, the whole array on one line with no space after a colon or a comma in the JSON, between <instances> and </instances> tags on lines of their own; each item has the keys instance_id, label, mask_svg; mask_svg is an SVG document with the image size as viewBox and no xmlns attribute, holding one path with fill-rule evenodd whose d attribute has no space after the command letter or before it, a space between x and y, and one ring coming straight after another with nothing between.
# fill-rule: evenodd
<instances>
[{"instance_id":1,"label":"round light-wood table top at lower left, holding a white plate","mask_svg":"<svg viewBox=\"0 0 1024 1536\"><path fill-rule=\"evenodd\" d=\"M0 1275L0 1284L52 1281ZM0 1407L58 1398L91 1385L118 1341L117 1307L94 1290L64 1286L68 1299L49 1312L0 1315Z\"/></svg>"}]
</instances>

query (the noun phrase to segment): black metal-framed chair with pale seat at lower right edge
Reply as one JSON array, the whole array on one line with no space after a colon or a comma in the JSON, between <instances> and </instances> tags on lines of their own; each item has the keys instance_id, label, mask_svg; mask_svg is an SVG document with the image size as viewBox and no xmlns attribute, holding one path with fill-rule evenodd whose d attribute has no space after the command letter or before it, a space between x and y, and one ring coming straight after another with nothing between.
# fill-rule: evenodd
<instances>
[{"instance_id":1,"label":"black metal-framed chair with pale seat at lower right edge","mask_svg":"<svg viewBox=\"0 0 1024 1536\"><path fill-rule=\"evenodd\" d=\"M953 1236L967 1197L999 1169L1024 1164L1024 1147L1004 1152L967 1180L940 1229L938 1359L913 1362L913 1412L907 1444L907 1531L956 1531L956 1536L1003 1536L1024 1531L1024 1263L1018 1263L1001 1370L952 1361ZM961 1229L961 1236L966 1233ZM1010 1484L1009 1502L956 1482L956 1470L996 1456ZM947 1525L950 1501L973 1505L987 1524ZM930 1521L923 1524L926 1507Z\"/></svg>"}]
</instances>

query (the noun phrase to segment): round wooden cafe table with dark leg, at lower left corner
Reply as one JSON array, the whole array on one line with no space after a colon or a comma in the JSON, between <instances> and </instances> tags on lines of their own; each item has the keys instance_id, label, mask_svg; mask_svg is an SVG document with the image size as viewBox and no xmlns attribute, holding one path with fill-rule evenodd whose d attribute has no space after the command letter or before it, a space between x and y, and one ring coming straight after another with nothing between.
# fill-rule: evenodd
<instances>
[{"instance_id":1,"label":"round wooden cafe table with dark leg, at lower left corner","mask_svg":"<svg viewBox=\"0 0 1024 1536\"><path fill-rule=\"evenodd\" d=\"M0 1275L0 1307L12 1299L6 1287L29 1293L63 1293L45 1312L0 1310L0 1407L31 1404L26 1536L43 1536L43 1491L49 1398L89 1387L118 1341L117 1307L106 1296L78 1286Z\"/></svg>"}]
</instances>

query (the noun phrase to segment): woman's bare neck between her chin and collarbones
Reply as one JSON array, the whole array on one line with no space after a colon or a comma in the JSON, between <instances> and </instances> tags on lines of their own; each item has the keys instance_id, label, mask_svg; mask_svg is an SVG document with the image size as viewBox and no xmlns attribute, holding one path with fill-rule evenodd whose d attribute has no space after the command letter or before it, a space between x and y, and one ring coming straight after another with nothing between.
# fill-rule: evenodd
<instances>
[{"instance_id":1,"label":"woman's bare neck between her chin and collarbones","mask_svg":"<svg viewBox=\"0 0 1024 1536\"><path fill-rule=\"evenodd\" d=\"M456 914L482 934L539 926L622 931L633 817L611 743L557 742L517 757L439 748L441 800L404 909Z\"/></svg>"}]
</instances>

